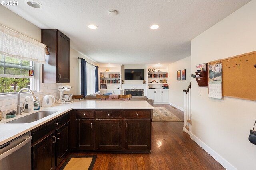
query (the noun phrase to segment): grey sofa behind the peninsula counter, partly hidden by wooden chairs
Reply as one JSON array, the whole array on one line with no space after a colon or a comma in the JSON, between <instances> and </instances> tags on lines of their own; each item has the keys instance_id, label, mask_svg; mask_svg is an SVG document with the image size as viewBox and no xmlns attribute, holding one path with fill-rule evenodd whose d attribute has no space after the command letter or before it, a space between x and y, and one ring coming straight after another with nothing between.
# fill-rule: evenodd
<instances>
[{"instance_id":1,"label":"grey sofa behind the peninsula counter, partly hidden by wooden chairs","mask_svg":"<svg viewBox=\"0 0 256 170\"><path fill-rule=\"evenodd\" d=\"M85 98L83 98L82 100L100 100L100 99L96 98L96 94L95 94L95 95L85 96ZM109 98L106 100L122 100L122 99L118 99L118 95L116 95L116 94L110 94ZM132 98L130 98L130 100L146 100L152 106L154 105L154 100L149 99L147 96L132 96Z\"/></svg>"}]
</instances>

